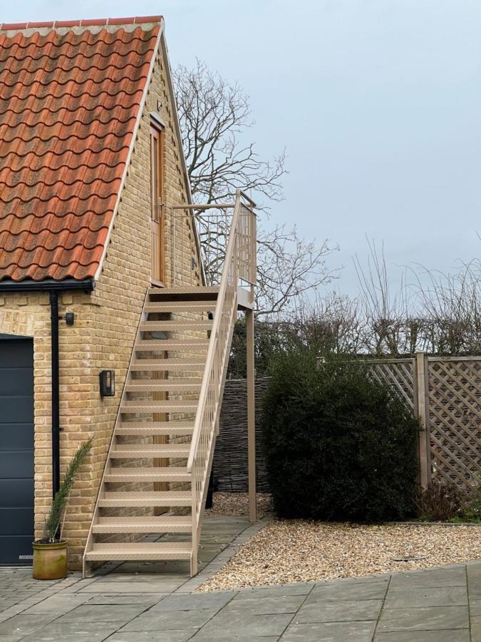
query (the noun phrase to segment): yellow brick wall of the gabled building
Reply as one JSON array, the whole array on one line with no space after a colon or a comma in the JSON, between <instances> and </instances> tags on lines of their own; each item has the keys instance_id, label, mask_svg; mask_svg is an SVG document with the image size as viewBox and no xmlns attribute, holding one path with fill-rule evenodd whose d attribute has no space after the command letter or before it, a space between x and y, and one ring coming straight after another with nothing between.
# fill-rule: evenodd
<instances>
[{"instance_id":1,"label":"yellow brick wall of the gabled building","mask_svg":"<svg viewBox=\"0 0 481 642\"><path fill-rule=\"evenodd\" d=\"M165 76L157 56L149 93L128 168L115 226L95 292L59 295L60 313L75 312L76 322L60 325L61 475L79 444L93 435L93 449L73 488L64 536L71 568L81 563L90 519L110 444L145 293L150 285L150 112L165 123L165 202L185 203L181 151ZM165 216L165 281L172 282L171 219ZM199 284L200 264L185 218L176 225L177 285ZM0 333L32 336L35 377L35 525L41 536L51 503L51 362L48 294L0 293ZM116 396L101 399L98 372L115 370Z\"/></svg>"}]
</instances>

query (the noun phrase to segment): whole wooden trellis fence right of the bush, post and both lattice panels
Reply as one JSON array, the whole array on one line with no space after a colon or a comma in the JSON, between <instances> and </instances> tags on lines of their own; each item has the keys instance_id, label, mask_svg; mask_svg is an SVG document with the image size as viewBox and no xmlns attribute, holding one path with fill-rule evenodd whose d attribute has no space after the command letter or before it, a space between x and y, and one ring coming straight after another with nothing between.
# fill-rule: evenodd
<instances>
[{"instance_id":1,"label":"whole wooden trellis fence right of the bush, post and both lattice panels","mask_svg":"<svg viewBox=\"0 0 481 642\"><path fill-rule=\"evenodd\" d=\"M481 472L481 357L378 360L371 376L388 383L420 420L420 483L435 474L471 487Z\"/></svg>"}]
</instances>

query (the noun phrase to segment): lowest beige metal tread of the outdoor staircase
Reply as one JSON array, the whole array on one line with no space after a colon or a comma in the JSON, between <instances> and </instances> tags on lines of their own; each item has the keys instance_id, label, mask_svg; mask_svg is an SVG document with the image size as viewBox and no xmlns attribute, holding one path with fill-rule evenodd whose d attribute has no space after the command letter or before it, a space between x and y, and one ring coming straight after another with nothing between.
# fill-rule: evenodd
<instances>
[{"instance_id":1,"label":"lowest beige metal tread of the outdoor staircase","mask_svg":"<svg viewBox=\"0 0 481 642\"><path fill-rule=\"evenodd\" d=\"M86 553L86 559L88 561L190 559L191 551L192 544L189 541L95 543L93 549Z\"/></svg>"}]
</instances>

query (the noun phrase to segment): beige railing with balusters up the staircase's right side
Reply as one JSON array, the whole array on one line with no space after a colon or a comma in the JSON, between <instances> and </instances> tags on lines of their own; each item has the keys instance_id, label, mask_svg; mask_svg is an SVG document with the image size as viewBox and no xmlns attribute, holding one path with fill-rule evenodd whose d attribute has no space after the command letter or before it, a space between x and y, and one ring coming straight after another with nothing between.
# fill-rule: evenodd
<instances>
[{"instance_id":1,"label":"beige railing with balusters up the staircase's right side","mask_svg":"<svg viewBox=\"0 0 481 642\"><path fill-rule=\"evenodd\" d=\"M254 302L257 273L254 206L255 203L247 195L237 190L187 459L187 471L192 476L192 519L197 524L205 498L207 470L212 459L212 441L219 419L218 410L229 360L227 350L237 315L237 290L241 282L249 287L250 302Z\"/></svg>"}]
</instances>

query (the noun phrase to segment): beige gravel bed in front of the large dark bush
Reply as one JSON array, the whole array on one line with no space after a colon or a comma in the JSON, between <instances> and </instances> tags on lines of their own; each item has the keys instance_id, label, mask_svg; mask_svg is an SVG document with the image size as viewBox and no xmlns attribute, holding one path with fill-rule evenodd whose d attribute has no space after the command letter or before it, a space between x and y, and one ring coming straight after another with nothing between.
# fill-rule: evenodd
<instances>
[{"instance_id":1,"label":"beige gravel bed in front of the large dark bush","mask_svg":"<svg viewBox=\"0 0 481 642\"><path fill-rule=\"evenodd\" d=\"M480 557L478 525L274 520L198 591L425 569Z\"/></svg>"}]
</instances>

